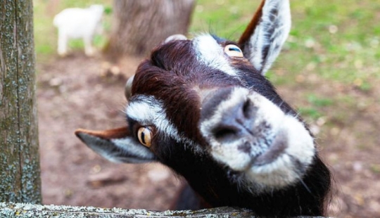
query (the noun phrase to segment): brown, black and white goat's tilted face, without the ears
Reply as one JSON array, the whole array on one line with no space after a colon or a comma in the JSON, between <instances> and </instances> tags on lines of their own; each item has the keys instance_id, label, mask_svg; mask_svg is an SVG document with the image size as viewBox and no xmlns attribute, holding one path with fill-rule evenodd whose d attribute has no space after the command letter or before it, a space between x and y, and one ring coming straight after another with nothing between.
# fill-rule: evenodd
<instances>
[{"instance_id":1,"label":"brown, black and white goat's tilted face, without the ears","mask_svg":"<svg viewBox=\"0 0 380 218\"><path fill-rule=\"evenodd\" d=\"M161 162L182 146L272 189L302 178L315 155L296 113L230 41L166 42L141 63L130 96L129 128Z\"/></svg>"}]
</instances>

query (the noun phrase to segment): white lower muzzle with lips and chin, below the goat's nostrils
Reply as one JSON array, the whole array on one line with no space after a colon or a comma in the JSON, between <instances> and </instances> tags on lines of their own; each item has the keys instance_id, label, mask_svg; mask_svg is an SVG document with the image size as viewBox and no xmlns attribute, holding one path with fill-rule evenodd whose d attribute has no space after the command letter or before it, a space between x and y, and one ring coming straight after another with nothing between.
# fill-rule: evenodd
<instances>
[{"instance_id":1,"label":"white lower muzzle with lips and chin, below the goat's nostrils","mask_svg":"<svg viewBox=\"0 0 380 218\"><path fill-rule=\"evenodd\" d=\"M210 153L215 160L241 174L245 182L274 189L288 186L302 179L315 155L312 137L300 125L296 126L280 129L274 139L257 139L270 141L269 145L213 144Z\"/></svg>"}]
</instances>

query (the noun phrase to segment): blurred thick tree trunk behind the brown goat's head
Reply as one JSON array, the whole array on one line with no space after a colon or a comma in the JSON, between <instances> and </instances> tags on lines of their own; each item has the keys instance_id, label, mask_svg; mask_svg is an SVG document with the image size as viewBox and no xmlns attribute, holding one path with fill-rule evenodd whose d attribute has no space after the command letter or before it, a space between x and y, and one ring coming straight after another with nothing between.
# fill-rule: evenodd
<instances>
[{"instance_id":1,"label":"blurred thick tree trunk behind the brown goat's head","mask_svg":"<svg viewBox=\"0 0 380 218\"><path fill-rule=\"evenodd\" d=\"M194 0L114 0L113 8L106 54L141 56L172 34L186 34Z\"/></svg>"}]
</instances>

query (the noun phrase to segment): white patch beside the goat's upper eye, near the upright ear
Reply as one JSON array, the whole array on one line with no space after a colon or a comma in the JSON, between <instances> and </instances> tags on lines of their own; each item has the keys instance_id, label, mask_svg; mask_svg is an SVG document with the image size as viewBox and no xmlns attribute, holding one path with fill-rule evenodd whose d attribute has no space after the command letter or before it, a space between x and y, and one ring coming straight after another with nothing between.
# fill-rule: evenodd
<instances>
[{"instance_id":1,"label":"white patch beside the goat's upper eye, near the upright ear","mask_svg":"<svg viewBox=\"0 0 380 218\"><path fill-rule=\"evenodd\" d=\"M203 34L193 39L194 49L199 61L208 67L220 70L227 75L237 77L238 72L229 64L224 49L210 34Z\"/></svg>"}]
</instances>

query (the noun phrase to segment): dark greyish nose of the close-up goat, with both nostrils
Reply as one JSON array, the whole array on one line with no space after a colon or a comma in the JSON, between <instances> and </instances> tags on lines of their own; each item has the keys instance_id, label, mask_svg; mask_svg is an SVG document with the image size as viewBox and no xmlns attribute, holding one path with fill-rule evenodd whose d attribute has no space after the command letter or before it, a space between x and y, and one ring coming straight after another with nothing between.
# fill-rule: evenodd
<instances>
[{"instance_id":1,"label":"dark greyish nose of the close-up goat, with both nostrils","mask_svg":"<svg viewBox=\"0 0 380 218\"><path fill-rule=\"evenodd\" d=\"M201 122L207 126L207 135L220 143L252 137L257 108L247 96L246 89L224 88L205 98Z\"/></svg>"}]
</instances>

